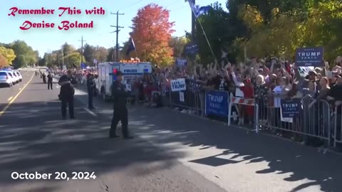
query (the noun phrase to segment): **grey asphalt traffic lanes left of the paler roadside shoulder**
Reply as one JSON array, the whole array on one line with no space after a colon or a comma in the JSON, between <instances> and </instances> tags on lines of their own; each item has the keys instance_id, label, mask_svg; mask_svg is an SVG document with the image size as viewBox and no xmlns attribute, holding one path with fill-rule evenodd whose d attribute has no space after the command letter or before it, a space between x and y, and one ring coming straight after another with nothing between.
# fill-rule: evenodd
<instances>
[{"instance_id":1,"label":"grey asphalt traffic lanes left of the paler roadside shoulder","mask_svg":"<svg viewBox=\"0 0 342 192\"><path fill-rule=\"evenodd\" d=\"M27 75L32 77L33 72ZM27 82L25 78L23 85ZM1 107L17 92L0 89ZM75 120L61 120L57 95L57 88L47 90L39 77L33 77L0 116L1 192L224 191L177 161L181 152L153 146L138 137L108 139L108 115L90 114L82 103L76 103ZM14 171L53 176L65 171L70 178L73 171L88 171L96 178L19 181L11 178Z\"/></svg>"}]
</instances>

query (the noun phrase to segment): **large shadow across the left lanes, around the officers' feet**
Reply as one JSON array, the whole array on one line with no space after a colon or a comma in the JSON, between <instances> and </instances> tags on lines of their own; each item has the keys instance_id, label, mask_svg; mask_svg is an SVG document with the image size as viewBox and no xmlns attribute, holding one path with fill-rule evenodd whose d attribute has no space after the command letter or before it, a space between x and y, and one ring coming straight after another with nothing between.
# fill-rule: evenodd
<instances>
[{"instance_id":1,"label":"large shadow across the left lanes, around the officers' feet","mask_svg":"<svg viewBox=\"0 0 342 192\"><path fill-rule=\"evenodd\" d=\"M66 171L70 175L72 171L89 171L100 176L132 164L143 167L157 161L162 162L157 169L168 169L184 155L138 138L108 139L108 119L90 116L78 104L74 120L62 121L59 109L55 100L14 103L0 117L0 186L27 182L11 179L14 171Z\"/></svg>"}]
</instances>

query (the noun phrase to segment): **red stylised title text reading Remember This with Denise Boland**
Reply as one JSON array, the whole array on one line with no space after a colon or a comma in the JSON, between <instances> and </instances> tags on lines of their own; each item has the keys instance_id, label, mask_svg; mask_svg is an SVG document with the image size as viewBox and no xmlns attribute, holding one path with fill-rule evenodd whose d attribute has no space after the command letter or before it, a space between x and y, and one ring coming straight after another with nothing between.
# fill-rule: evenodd
<instances>
[{"instance_id":1,"label":"red stylised title text reading Remember This with Denise Boland","mask_svg":"<svg viewBox=\"0 0 342 192\"><path fill-rule=\"evenodd\" d=\"M9 16L16 16L16 15L53 15L55 14L55 9L19 9L18 7L12 7L9 9L10 13ZM58 8L59 14L58 16L61 17L64 14L68 15L80 15L82 14L81 9L76 9L76 7L59 7ZM105 10L101 8L94 7L93 9L86 9L87 15L104 15ZM28 30L31 28L55 28L55 23L49 23L46 21L41 21L40 23L33 23L31 21L24 21L24 23L19 26L21 30ZM69 30L71 28L93 28L94 22L90 21L88 23L82 23L79 21L61 21L61 24L58 26L59 30Z\"/></svg>"}]
</instances>

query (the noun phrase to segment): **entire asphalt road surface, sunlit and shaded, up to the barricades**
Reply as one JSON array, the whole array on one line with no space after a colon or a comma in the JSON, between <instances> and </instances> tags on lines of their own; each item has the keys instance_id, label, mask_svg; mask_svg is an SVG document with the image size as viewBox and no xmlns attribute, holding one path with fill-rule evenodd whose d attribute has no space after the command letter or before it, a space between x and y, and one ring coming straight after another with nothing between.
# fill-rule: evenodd
<instances>
[{"instance_id":1,"label":"entire asphalt road surface, sunlit and shaded, up to the barricades","mask_svg":"<svg viewBox=\"0 0 342 192\"><path fill-rule=\"evenodd\" d=\"M97 98L86 110L79 85L76 119L63 121L59 86L47 90L33 71L23 78L0 88L0 192L342 191L339 154L142 106L130 106L135 139L112 140L110 103ZM11 178L36 171L51 179Z\"/></svg>"}]
</instances>

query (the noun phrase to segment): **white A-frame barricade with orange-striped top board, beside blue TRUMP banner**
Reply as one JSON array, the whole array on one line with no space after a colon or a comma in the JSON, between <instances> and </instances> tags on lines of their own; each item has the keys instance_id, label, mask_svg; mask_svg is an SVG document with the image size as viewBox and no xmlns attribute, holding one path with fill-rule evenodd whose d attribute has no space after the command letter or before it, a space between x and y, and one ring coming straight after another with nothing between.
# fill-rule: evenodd
<instances>
[{"instance_id":1,"label":"white A-frame barricade with orange-striped top board, beside blue TRUMP banner","mask_svg":"<svg viewBox=\"0 0 342 192\"><path fill-rule=\"evenodd\" d=\"M246 106L253 106L254 107L254 131L259 132L259 104L255 102L254 99L247 99L243 97L234 97L232 94L230 95L230 102L229 102L229 110L228 110L228 126L232 123L232 107L233 105L246 105ZM239 113L239 112L238 112Z\"/></svg>"}]
</instances>

